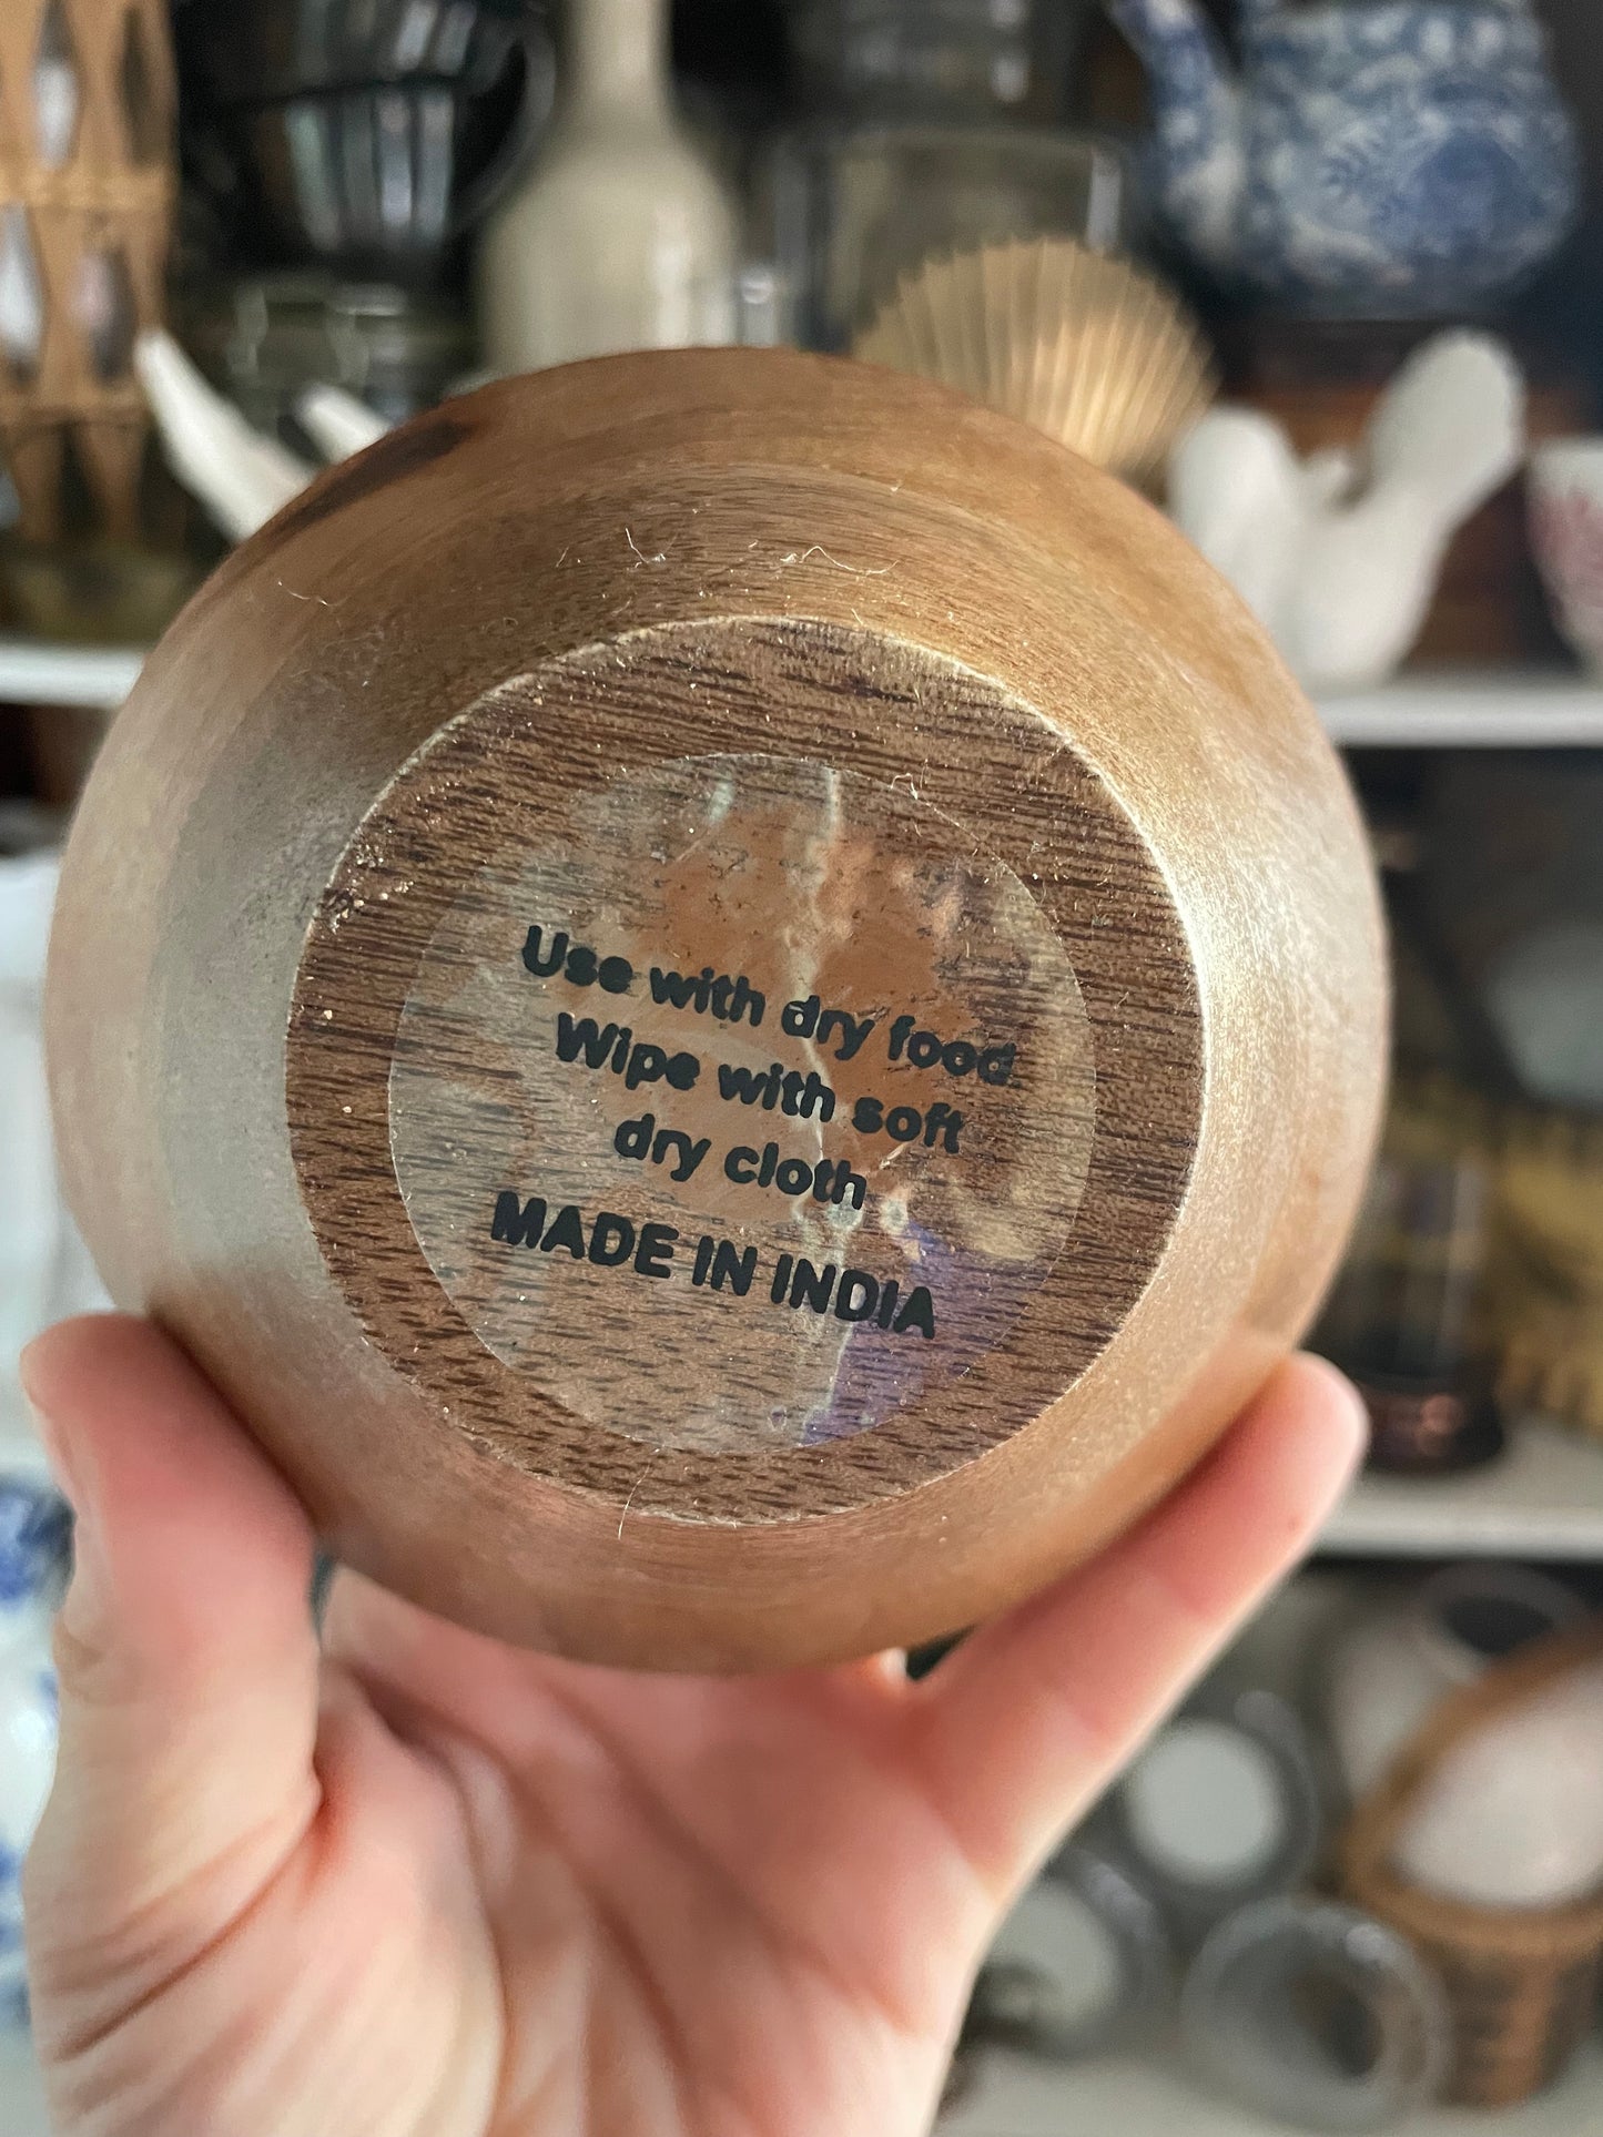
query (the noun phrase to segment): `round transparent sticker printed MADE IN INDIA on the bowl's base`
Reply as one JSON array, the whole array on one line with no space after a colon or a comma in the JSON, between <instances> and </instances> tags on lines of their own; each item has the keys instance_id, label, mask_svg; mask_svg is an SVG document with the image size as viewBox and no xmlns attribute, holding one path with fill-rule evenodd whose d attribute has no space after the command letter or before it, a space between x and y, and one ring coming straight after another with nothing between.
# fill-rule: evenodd
<instances>
[{"instance_id":1,"label":"round transparent sticker printed MADE IN INDIA on the bowl's base","mask_svg":"<svg viewBox=\"0 0 1603 2137\"><path fill-rule=\"evenodd\" d=\"M389 1141L477 1338L658 1449L868 1432L1005 1340L1064 1250L1086 1009L1026 885L789 756L628 771L449 906Z\"/></svg>"}]
</instances>

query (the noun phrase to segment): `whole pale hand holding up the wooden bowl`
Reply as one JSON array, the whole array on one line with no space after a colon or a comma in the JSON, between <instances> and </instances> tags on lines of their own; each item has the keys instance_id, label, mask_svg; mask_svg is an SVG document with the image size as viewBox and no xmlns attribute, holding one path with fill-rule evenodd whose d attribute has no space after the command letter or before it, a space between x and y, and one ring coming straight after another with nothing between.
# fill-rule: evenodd
<instances>
[{"instance_id":1,"label":"whole pale hand holding up the wooden bowl","mask_svg":"<svg viewBox=\"0 0 1603 2137\"><path fill-rule=\"evenodd\" d=\"M79 1513L26 1881L62 2137L923 2137L1000 1913L1302 1554L1359 1410L1285 1366L930 1678L645 1678L333 1586L152 1327L26 1387Z\"/></svg>"}]
</instances>

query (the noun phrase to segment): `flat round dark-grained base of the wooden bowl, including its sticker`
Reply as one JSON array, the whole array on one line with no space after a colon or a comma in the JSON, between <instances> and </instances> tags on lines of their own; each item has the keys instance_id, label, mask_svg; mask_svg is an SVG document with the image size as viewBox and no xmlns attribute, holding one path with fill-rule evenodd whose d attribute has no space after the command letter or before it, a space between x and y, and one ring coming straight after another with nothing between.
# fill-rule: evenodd
<instances>
[{"instance_id":1,"label":"flat round dark-grained base of the wooden bowl, including its sticker","mask_svg":"<svg viewBox=\"0 0 1603 2137\"><path fill-rule=\"evenodd\" d=\"M1037 1419L1148 1284L1199 1094L1180 921L1064 733L795 622L633 633L445 724L289 1032L325 1261L440 1432L703 1524Z\"/></svg>"}]
</instances>

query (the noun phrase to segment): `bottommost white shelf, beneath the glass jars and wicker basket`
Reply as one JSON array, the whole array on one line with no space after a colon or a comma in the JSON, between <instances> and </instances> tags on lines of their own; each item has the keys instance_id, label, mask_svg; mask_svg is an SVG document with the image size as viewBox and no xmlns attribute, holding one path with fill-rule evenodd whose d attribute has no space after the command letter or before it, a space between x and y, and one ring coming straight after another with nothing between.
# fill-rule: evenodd
<instances>
[{"instance_id":1,"label":"bottommost white shelf, beneath the glass jars and wicker basket","mask_svg":"<svg viewBox=\"0 0 1603 2137\"><path fill-rule=\"evenodd\" d=\"M1438 2107L1398 2137L1592 2137L1603 2128L1603 2054L1588 2049L1552 2092L1503 2113ZM1229 2101L1205 2099L1163 2062L1107 2060L1054 2069L992 2052L936 2137L1304 2137Z\"/></svg>"}]
</instances>

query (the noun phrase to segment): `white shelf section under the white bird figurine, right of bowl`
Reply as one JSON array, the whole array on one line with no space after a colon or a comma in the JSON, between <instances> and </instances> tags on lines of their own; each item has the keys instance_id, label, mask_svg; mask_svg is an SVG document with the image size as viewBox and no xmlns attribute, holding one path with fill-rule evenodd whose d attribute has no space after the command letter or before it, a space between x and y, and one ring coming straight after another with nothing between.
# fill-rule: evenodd
<instances>
[{"instance_id":1,"label":"white shelf section under the white bird figurine, right of bowl","mask_svg":"<svg viewBox=\"0 0 1603 2137\"><path fill-rule=\"evenodd\" d=\"M1344 748L1603 748L1603 682L1562 671L1400 675L1323 699L1319 716Z\"/></svg>"}]
</instances>

